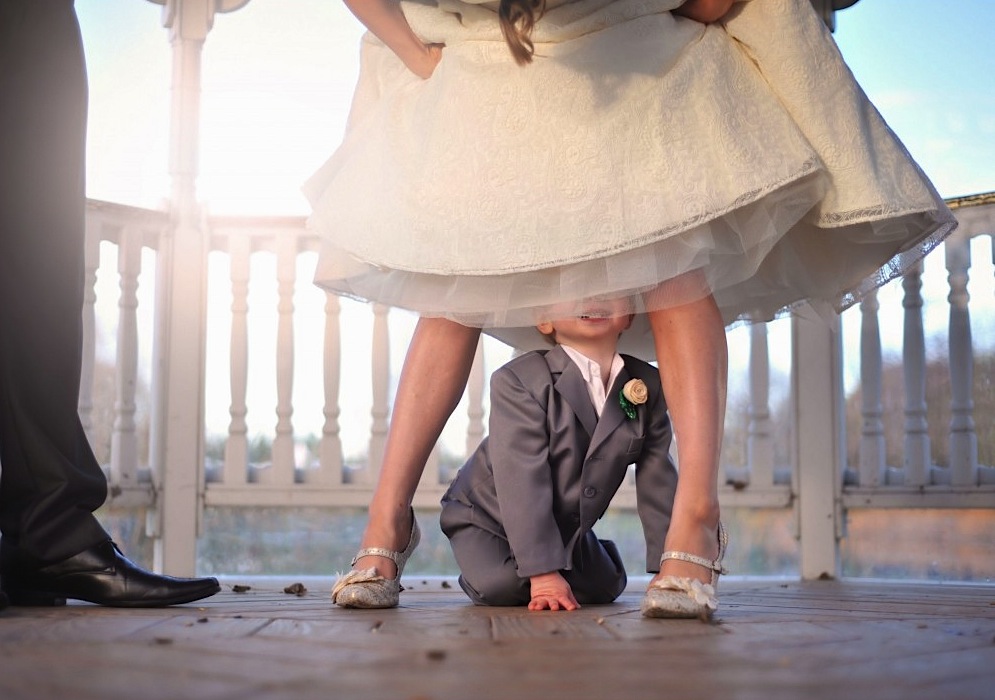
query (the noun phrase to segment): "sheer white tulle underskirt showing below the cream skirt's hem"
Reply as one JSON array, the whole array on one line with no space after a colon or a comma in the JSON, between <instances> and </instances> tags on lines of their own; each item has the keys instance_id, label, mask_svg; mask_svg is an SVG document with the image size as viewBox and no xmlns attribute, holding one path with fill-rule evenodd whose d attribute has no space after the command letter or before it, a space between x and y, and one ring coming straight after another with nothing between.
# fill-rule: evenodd
<instances>
[{"instance_id":1,"label":"sheer white tulle underskirt showing below the cream skirt's hem","mask_svg":"<svg viewBox=\"0 0 995 700\"><path fill-rule=\"evenodd\" d=\"M768 321L808 302L840 312L867 292L900 276L938 245L952 224L935 212L868 221L839 229L806 223L818 176L792 183L757 202L624 253L556 267L500 275L432 275L364 264L323 243L322 285L360 301L409 309L485 329L521 349L542 349L548 341L535 328L544 320L581 313L588 301L628 298L637 314L619 349L652 359L646 311L714 295L727 325ZM761 225L760 222L763 222ZM788 225L790 223L790 225ZM755 241L743 227L789 230L787 236ZM933 230L903 248L908 231ZM846 245L827 241L874 240L867 257L848 257ZM709 241L708 246L702 241ZM880 260L886 259L884 265ZM696 274L689 274L689 273ZM663 281L663 282L661 282ZM827 290L831 294L827 297Z\"/></svg>"}]
</instances>

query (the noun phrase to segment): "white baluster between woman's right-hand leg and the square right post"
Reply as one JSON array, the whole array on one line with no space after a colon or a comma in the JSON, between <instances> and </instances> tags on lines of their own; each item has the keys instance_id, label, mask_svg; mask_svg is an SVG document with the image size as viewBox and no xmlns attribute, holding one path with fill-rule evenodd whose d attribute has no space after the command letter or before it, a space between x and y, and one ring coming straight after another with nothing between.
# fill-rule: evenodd
<instances>
[{"instance_id":1,"label":"white baluster between woman's right-hand leg and the square right post","mask_svg":"<svg viewBox=\"0 0 995 700\"><path fill-rule=\"evenodd\" d=\"M746 435L746 483L773 486L774 438L766 323L750 325L750 408Z\"/></svg>"}]
</instances>

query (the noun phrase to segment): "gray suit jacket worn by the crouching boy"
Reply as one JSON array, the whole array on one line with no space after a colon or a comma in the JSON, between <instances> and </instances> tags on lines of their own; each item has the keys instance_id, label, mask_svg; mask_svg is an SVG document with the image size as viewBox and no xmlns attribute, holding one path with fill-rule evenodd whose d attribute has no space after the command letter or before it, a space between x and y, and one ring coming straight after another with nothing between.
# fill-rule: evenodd
<instances>
[{"instance_id":1,"label":"gray suit jacket worn by the crouching boy","mask_svg":"<svg viewBox=\"0 0 995 700\"><path fill-rule=\"evenodd\" d=\"M487 438L442 499L442 529L478 527L506 538L521 577L571 568L578 539L604 515L636 465L646 570L657 571L677 471L658 370L623 356L600 419L577 365L559 346L526 353L491 377ZM618 394L639 378L649 400L628 419Z\"/></svg>"}]
</instances>

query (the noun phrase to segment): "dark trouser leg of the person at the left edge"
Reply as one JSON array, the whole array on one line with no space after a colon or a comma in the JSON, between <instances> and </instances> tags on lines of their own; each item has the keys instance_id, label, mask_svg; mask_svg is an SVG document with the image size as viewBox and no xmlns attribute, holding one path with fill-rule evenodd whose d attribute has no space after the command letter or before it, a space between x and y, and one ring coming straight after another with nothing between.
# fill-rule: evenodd
<instances>
[{"instance_id":1,"label":"dark trouser leg of the person at the left edge","mask_svg":"<svg viewBox=\"0 0 995 700\"><path fill-rule=\"evenodd\" d=\"M0 0L0 532L42 561L107 538L77 412L86 109L72 0Z\"/></svg>"}]
</instances>

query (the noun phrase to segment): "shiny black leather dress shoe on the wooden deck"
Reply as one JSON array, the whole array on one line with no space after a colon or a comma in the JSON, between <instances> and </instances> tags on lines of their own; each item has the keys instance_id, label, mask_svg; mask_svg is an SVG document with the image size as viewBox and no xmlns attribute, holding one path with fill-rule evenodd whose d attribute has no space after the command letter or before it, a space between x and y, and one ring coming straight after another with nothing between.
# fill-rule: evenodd
<instances>
[{"instance_id":1,"label":"shiny black leather dress shoe on the wooden deck","mask_svg":"<svg viewBox=\"0 0 995 700\"><path fill-rule=\"evenodd\" d=\"M0 590L11 605L65 605L85 600L120 608L191 603L221 590L215 578L173 578L130 562L110 540L55 564L19 566L8 559Z\"/></svg>"}]
</instances>

